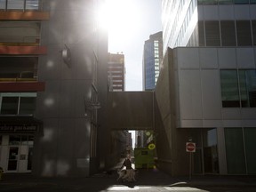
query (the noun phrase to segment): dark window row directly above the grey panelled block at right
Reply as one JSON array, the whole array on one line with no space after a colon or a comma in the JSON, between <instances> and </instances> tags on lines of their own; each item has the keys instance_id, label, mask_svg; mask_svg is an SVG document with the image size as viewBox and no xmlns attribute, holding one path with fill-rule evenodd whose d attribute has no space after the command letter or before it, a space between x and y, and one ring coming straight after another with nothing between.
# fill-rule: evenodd
<instances>
[{"instance_id":1,"label":"dark window row directly above the grey panelled block at right","mask_svg":"<svg viewBox=\"0 0 256 192\"><path fill-rule=\"evenodd\" d=\"M198 22L199 46L256 45L256 20Z\"/></svg>"}]
</instances>

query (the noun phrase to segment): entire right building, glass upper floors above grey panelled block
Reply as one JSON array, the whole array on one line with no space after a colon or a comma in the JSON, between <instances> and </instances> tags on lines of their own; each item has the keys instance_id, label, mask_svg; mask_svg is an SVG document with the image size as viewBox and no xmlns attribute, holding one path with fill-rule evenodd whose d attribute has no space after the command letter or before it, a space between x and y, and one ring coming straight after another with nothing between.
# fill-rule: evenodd
<instances>
[{"instance_id":1,"label":"entire right building, glass upper floors above grey panelled block","mask_svg":"<svg viewBox=\"0 0 256 192\"><path fill-rule=\"evenodd\" d=\"M192 141L193 173L256 174L256 2L163 0L163 20L160 167L188 174Z\"/></svg>"}]
</instances>

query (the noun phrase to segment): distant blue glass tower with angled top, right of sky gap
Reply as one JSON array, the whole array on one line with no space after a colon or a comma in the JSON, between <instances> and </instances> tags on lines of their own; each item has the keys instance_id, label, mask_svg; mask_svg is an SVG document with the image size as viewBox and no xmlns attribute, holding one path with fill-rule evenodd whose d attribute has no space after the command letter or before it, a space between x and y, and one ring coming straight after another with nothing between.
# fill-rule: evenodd
<instances>
[{"instance_id":1,"label":"distant blue glass tower with angled top, right of sky gap","mask_svg":"<svg viewBox=\"0 0 256 192\"><path fill-rule=\"evenodd\" d=\"M145 41L143 51L143 89L154 90L159 76L160 64L163 60L163 36L162 31L150 35Z\"/></svg>"}]
</instances>

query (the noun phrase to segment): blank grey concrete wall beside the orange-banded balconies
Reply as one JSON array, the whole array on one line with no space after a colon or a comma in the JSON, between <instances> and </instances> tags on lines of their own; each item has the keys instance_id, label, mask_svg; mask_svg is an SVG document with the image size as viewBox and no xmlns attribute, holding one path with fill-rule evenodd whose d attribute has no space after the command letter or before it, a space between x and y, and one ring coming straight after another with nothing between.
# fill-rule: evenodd
<instances>
[{"instance_id":1,"label":"blank grey concrete wall beside the orange-banded balconies","mask_svg":"<svg viewBox=\"0 0 256 192\"><path fill-rule=\"evenodd\" d=\"M45 82L45 92L36 100L36 116L44 121L33 160L33 172L38 175L90 174L95 156L90 156L92 124L90 116L85 116L84 101L92 100L94 84L102 108L98 121L104 121L107 94L107 84L101 85L107 82L107 68L102 67L107 64L107 37L95 25L95 6L96 1L44 1L51 17L42 25L41 40L48 53L40 57L38 68L39 79ZM61 55L67 47L68 63Z\"/></svg>"}]
</instances>

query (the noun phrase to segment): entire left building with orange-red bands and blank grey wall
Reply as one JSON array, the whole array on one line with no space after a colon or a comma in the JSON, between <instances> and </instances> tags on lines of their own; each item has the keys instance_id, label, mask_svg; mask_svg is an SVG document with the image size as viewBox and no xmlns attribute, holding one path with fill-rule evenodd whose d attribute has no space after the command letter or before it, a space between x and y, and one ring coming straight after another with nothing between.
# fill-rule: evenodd
<instances>
[{"instance_id":1,"label":"entire left building with orange-red bands and blank grey wall","mask_svg":"<svg viewBox=\"0 0 256 192\"><path fill-rule=\"evenodd\" d=\"M87 176L106 165L108 39L93 16L100 3L0 1L4 172Z\"/></svg>"}]
</instances>

